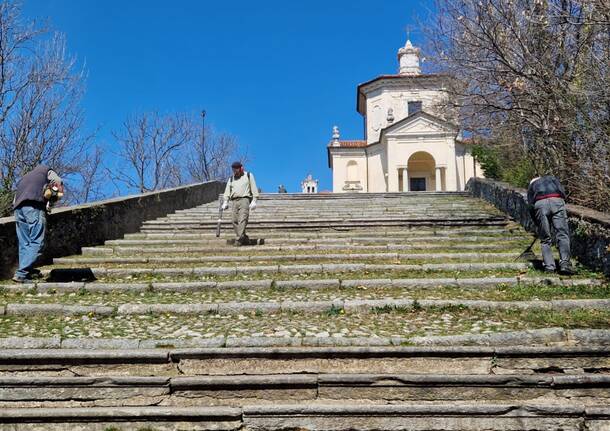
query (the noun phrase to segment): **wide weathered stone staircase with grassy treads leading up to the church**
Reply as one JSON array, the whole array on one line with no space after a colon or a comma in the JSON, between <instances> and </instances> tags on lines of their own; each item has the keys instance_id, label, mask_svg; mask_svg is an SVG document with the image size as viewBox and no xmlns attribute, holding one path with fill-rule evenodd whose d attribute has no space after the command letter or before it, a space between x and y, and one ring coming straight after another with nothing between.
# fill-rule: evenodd
<instances>
[{"instance_id":1,"label":"wide weathered stone staircase with grassy treads leading up to the church","mask_svg":"<svg viewBox=\"0 0 610 431\"><path fill-rule=\"evenodd\" d=\"M2 284L0 430L609 430L610 287L466 194L263 195Z\"/></svg>"}]
</instances>

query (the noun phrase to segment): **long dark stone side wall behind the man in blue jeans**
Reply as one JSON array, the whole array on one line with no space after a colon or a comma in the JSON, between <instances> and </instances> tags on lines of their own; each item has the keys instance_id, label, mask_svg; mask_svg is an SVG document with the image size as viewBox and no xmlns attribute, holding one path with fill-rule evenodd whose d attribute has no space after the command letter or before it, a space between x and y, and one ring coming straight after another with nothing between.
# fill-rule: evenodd
<instances>
[{"instance_id":1,"label":"long dark stone side wall behind the man in blue jeans","mask_svg":"<svg viewBox=\"0 0 610 431\"><path fill-rule=\"evenodd\" d=\"M142 222L174 211L212 202L224 183L210 181L72 207L57 208L47 217L42 262L80 253L81 247L103 244L137 232ZM0 218L0 278L12 276L18 261L13 217Z\"/></svg>"}]
</instances>

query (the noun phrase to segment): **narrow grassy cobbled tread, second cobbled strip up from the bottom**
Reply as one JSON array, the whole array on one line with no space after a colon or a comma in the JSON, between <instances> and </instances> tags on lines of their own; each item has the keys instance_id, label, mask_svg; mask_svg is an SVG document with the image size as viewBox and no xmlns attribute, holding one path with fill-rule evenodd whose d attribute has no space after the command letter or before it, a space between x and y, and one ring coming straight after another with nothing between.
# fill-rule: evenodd
<instances>
[{"instance_id":1,"label":"narrow grassy cobbled tread, second cobbled strip up from the bottom","mask_svg":"<svg viewBox=\"0 0 610 431\"><path fill-rule=\"evenodd\" d=\"M28 304L78 304L120 305L140 304L192 304L209 302L241 301L328 301L334 299L484 299L491 301L530 301L553 299L603 299L610 297L610 285L556 286L544 284L498 284L495 287L437 286L401 288L396 286L364 285L339 288L201 288L192 292L176 292L165 289L150 289L145 292L114 290L91 292L80 289L76 292L40 293L33 289L22 292L0 292L0 303Z\"/></svg>"}]
</instances>

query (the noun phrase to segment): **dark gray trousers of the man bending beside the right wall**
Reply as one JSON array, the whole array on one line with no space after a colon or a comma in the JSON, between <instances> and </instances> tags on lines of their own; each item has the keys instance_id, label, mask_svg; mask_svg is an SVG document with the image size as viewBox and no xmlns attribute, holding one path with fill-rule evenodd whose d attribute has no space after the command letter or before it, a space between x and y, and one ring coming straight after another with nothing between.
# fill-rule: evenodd
<instances>
[{"instance_id":1,"label":"dark gray trousers of the man bending beside the right wall","mask_svg":"<svg viewBox=\"0 0 610 431\"><path fill-rule=\"evenodd\" d=\"M538 221L538 235L542 247L544 269L555 270L555 259L551 245L551 225L555 228L555 238L559 249L560 268L570 266L570 228L566 214L565 202L561 198L548 198L539 200L534 204L536 219Z\"/></svg>"}]
</instances>

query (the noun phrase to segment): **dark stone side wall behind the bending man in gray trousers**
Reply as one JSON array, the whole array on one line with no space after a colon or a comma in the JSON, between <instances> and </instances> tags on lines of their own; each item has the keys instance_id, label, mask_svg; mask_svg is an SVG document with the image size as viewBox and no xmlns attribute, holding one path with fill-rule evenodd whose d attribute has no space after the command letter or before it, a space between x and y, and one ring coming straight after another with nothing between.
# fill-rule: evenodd
<instances>
[{"instance_id":1,"label":"dark stone side wall behind the bending man in gray trousers","mask_svg":"<svg viewBox=\"0 0 610 431\"><path fill-rule=\"evenodd\" d=\"M527 209L527 191L498 181L471 178L471 195L492 203L525 229L535 232ZM583 265L610 276L610 216L578 205L567 205L572 256Z\"/></svg>"}]
</instances>

